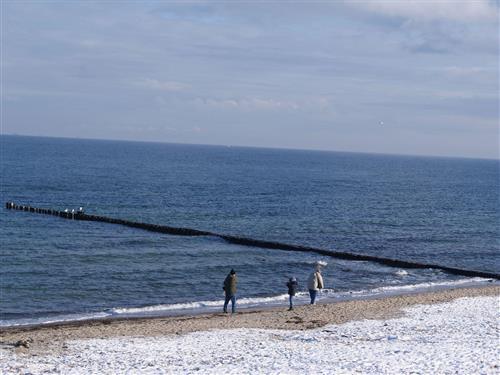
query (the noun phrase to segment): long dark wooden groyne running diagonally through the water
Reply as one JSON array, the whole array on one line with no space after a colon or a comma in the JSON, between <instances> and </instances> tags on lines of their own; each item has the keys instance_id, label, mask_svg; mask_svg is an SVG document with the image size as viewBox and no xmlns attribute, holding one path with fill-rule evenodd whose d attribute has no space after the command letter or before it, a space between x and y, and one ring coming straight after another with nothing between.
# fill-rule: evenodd
<instances>
[{"instance_id":1,"label":"long dark wooden groyne running diagonally through the water","mask_svg":"<svg viewBox=\"0 0 500 375\"><path fill-rule=\"evenodd\" d=\"M88 215L88 214L84 213L83 209L81 209L81 208L79 211L75 211L75 210L58 211L58 210L47 209L47 208L31 207L31 206L27 206L27 205L17 205L13 202L5 203L5 208L8 210L18 210L18 211L27 211L27 212L33 212L33 213L38 213L38 214L53 215L53 216L58 216L58 217L62 217L64 219L70 219L70 220L98 221L98 222L109 223L109 224L119 224L119 225L124 225L127 227L147 230L150 232L165 233L165 234L176 235L176 236L213 236L213 237L221 238L228 243L236 244L236 245L260 247L260 248L264 248L264 249L285 250L285 251L312 252L312 253L316 253L316 254L329 256L332 258L338 258L338 259L344 259L344 260L375 262L375 263L383 264L385 266L390 266L390 267L434 268L434 269L439 269L441 271L444 271L446 273L453 274L453 275L461 275L461 276L468 276L468 277L484 277L484 278L492 278L492 279L500 280L500 274L493 273L493 272L467 270L467 269L462 269L462 268L442 266L439 264L427 264L427 263L411 262L411 261L405 261L405 260L399 260L399 259L377 257L377 256L373 256L373 255L355 254L355 253L347 253L347 252L342 252L342 251L327 250L327 249L321 249L321 248L311 247L311 246L292 245L292 244L286 244L286 243L282 243L282 242L264 241L264 240L258 240L258 239L247 238L247 237L231 236L231 235L214 233L214 232L207 232L207 231L191 229L191 228L178 228L178 227L171 227L171 226L167 226L167 225L148 224L148 223L123 220L123 219L115 219L115 218L110 218L110 217L106 217L106 216Z\"/></svg>"}]
</instances>

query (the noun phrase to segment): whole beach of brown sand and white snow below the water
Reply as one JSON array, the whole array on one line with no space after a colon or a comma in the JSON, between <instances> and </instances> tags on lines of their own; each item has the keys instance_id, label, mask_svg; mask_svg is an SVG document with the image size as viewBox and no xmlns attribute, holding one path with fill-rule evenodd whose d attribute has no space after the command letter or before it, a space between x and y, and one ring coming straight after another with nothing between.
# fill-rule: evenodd
<instances>
[{"instance_id":1,"label":"whole beach of brown sand and white snow below the water","mask_svg":"<svg viewBox=\"0 0 500 375\"><path fill-rule=\"evenodd\" d=\"M2 373L498 373L500 287L3 329ZM16 347L16 343L25 343Z\"/></svg>"}]
</instances>

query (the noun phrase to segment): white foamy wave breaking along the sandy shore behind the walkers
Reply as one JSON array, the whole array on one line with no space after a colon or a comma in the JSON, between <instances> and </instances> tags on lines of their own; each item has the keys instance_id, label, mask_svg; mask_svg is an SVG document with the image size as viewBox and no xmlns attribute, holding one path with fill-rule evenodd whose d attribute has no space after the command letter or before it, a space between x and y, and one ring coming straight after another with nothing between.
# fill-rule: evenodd
<instances>
[{"instance_id":1,"label":"white foamy wave breaking along the sandy shore behind the walkers","mask_svg":"<svg viewBox=\"0 0 500 375\"><path fill-rule=\"evenodd\" d=\"M480 277L459 279L454 281L424 282L408 285L383 286L373 289L339 291L336 289L323 289L319 293L318 299L323 302L338 302L354 299L368 299L380 296L392 296L398 294L411 294L430 290L451 289L455 287L473 287L481 286L486 283L497 283L493 279ZM54 323L76 322L84 320L97 320L103 318L130 318L130 317L158 317L174 316L187 314L214 313L222 310L224 301L193 301L174 304L160 304L142 307L116 307L102 312L87 314L66 314L52 317L26 318L13 320L0 320L0 327L19 327L19 326L39 326ZM238 309L252 308L271 308L286 306L288 303L288 294L279 294L267 297L248 297L237 299ZM309 303L308 292L298 292L295 296L296 305L305 305Z\"/></svg>"}]
</instances>

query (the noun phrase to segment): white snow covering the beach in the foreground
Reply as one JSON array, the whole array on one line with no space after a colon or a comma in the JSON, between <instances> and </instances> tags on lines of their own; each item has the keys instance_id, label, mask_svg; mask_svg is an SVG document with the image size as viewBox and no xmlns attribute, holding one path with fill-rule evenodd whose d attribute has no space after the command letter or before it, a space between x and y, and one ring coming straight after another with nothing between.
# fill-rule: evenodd
<instances>
[{"instance_id":1,"label":"white snow covering the beach in the foreground","mask_svg":"<svg viewBox=\"0 0 500 375\"><path fill-rule=\"evenodd\" d=\"M233 329L73 340L64 353L2 349L2 373L500 373L499 298L417 305L390 320L314 330ZM234 317L237 319L237 317Z\"/></svg>"}]
</instances>

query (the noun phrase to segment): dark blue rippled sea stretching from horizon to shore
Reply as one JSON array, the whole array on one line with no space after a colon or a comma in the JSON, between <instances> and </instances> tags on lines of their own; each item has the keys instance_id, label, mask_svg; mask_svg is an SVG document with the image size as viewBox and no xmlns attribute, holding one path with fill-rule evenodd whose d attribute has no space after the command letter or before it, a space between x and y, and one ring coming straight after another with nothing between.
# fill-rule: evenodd
<instances>
[{"instance_id":1,"label":"dark blue rippled sea stretching from horizon to shore","mask_svg":"<svg viewBox=\"0 0 500 375\"><path fill-rule=\"evenodd\" d=\"M0 327L320 301L498 281L7 210L5 202L500 271L499 160L0 136Z\"/></svg>"}]
</instances>

